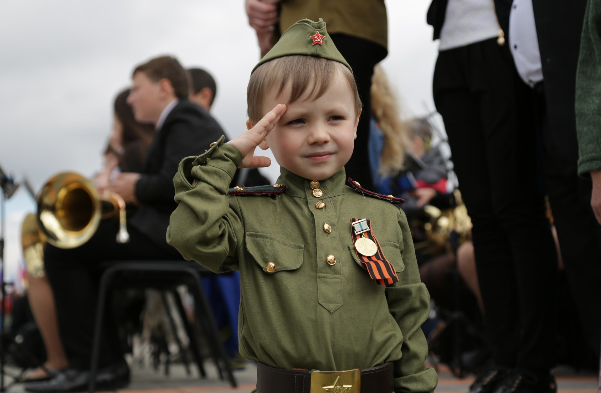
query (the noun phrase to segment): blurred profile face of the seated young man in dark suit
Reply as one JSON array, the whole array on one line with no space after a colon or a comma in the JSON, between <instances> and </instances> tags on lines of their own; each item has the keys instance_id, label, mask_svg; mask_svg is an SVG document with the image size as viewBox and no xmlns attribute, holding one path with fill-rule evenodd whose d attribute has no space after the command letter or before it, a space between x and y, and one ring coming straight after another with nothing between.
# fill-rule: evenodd
<instances>
[{"instance_id":1,"label":"blurred profile face of the seated young man in dark suit","mask_svg":"<svg viewBox=\"0 0 601 393\"><path fill-rule=\"evenodd\" d=\"M132 106L136 121L156 124L162 111L160 107L162 88L160 82L153 82L146 74L139 71L133 75L132 89L127 96L127 103Z\"/></svg>"}]
</instances>

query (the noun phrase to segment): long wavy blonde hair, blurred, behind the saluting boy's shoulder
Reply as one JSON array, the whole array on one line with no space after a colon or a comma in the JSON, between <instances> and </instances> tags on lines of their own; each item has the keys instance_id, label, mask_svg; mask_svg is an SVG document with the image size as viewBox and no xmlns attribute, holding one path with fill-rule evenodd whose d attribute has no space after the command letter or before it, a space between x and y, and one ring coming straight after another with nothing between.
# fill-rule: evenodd
<instances>
[{"instance_id":1,"label":"long wavy blonde hair, blurred, behind the saluting boy's shoulder","mask_svg":"<svg viewBox=\"0 0 601 393\"><path fill-rule=\"evenodd\" d=\"M397 98L380 65L374 67L371 77L371 115L384 133L379 172L394 176L403 169L406 130L398 116Z\"/></svg>"}]
</instances>

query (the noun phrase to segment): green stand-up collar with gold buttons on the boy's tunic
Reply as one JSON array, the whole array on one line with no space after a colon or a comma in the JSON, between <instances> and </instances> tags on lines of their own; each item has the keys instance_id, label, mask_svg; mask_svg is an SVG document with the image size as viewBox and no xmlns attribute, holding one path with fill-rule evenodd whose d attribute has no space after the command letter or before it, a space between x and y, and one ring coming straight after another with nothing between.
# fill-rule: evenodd
<instances>
[{"instance_id":1,"label":"green stand-up collar with gold buttons on the boy's tunic","mask_svg":"<svg viewBox=\"0 0 601 393\"><path fill-rule=\"evenodd\" d=\"M333 196L343 195L346 187L346 172L344 167L334 175L327 179L320 180L319 183L313 182L312 179L305 179L299 175L295 175L284 167L279 169L278 184L286 186L284 193L294 197L301 197L305 199L320 200ZM322 192L321 196L319 192L314 193L314 188L319 189ZM317 194L317 195L316 195Z\"/></svg>"}]
</instances>

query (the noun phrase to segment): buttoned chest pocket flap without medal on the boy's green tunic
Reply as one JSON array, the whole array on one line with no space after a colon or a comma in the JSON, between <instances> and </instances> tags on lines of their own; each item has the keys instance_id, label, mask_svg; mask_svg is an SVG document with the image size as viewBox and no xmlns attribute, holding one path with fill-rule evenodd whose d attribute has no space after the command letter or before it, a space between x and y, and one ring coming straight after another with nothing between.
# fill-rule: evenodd
<instances>
[{"instance_id":1,"label":"buttoned chest pocket flap without medal on the boy's green tunic","mask_svg":"<svg viewBox=\"0 0 601 393\"><path fill-rule=\"evenodd\" d=\"M275 239L265 233L247 232L246 250L264 272L272 274L300 268L305 246Z\"/></svg>"}]
</instances>

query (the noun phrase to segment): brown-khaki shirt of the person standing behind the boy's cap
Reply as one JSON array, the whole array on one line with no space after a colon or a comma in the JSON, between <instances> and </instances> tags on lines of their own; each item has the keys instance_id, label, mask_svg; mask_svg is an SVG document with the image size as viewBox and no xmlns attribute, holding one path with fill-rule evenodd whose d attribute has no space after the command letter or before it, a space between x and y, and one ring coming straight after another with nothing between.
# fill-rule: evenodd
<instances>
[{"instance_id":1,"label":"brown-khaki shirt of the person standing behind the boy's cap","mask_svg":"<svg viewBox=\"0 0 601 393\"><path fill-rule=\"evenodd\" d=\"M352 35L388 48L384 0L284 0L280 4L281 33L301 19L322 18L329 34Z\"/></svg>"}]
</instances>

